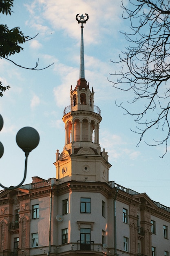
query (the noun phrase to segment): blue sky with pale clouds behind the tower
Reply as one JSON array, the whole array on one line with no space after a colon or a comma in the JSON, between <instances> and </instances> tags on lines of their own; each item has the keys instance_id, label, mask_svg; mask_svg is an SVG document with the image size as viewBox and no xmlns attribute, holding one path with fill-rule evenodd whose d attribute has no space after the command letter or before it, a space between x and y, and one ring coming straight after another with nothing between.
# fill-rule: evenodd
<instances>
[{"instance_id":1,"label":"blue sky with pale clouds behind the tower","mask_svg":"<svg viewBox=\"0 0 170 256\"><path fill-rule=\"evenodd\" d=\"M128 3L128 0L124 1ZM144 142L152 139L148 132L139 147L139 135L132 132L133 117L115 105L126 102L127 95L113 88L117 61L128 46L120 31L129 31L122 18L121 0L14 0L11 16L0 14L0 23L9 29L20 27L25 36L34 37L26 42L20 54L10 59L24 67L39 68L54 64L41 71L26 70L10 61L0 59L0 81L11 89L0 98L0 114L4 126L0 141L4 155L0 159L0 183L18 185L24 175L24 152L17 146L15 136L20 128L31 126L40 134L40 143L28 157L27 176L44 179L55 177L56 150L61 153L65 144L64 108L70 105L70 88L79 79L80 24L79 13L87 13L84 24L85 79L94 89L95 105L101 109L102 121L99 143L108 152L112 165L109 180L170 207L170 148L150 147ZM110 81L109 81L110 80ZM130 96L130 95L128 95Z\"/></svg>"}]
</instances>

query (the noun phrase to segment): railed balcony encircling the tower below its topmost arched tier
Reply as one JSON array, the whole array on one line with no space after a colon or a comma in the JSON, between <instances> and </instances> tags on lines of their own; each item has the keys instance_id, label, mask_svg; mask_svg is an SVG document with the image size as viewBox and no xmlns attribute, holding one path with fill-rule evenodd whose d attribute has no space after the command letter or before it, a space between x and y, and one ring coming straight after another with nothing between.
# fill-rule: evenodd
<instances>
[{"instance_id":1,"label":"railed balcony encircling the tower below its topmost arched tier","mask_svg":"<svg viewBox=\"0 0 170 256\"><path fill-rule=\"evenodd\" d=\"M71 111L77 111L77 110L84 110L84 111L90 111L95 112L96 114L101 116L101 110L98 106L91 105L91 104L76 104L75 106L69 105L64 108L64 115L68 114Z\"/></svg>"}]
</instances>

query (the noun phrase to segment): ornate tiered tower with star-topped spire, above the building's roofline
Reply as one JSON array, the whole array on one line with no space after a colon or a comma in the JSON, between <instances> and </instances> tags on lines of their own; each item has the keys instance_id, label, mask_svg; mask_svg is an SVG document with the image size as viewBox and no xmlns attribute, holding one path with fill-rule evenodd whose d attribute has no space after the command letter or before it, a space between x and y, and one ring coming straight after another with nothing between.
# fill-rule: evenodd
<instances>
[{"instance_id":1,"label":"ornate tiered tower with star-topped spire, above the building's roofline","mask_svg":"<svg viewBox=\"0 0 170 256\"><path fill-rule=\"evenodd\" d=\"M99 145L101 112L94 105L93 87L89 89L84 75L83 25L88 20L88 14L77 14L76 20L81 23L79 80L74 90L71 85L70 105L64 109L65 146L61 154L58 150L56 153L56 178L61 182L108 182L111 165L107 152L101 152Z\"/></svg>"}]
</instances>

